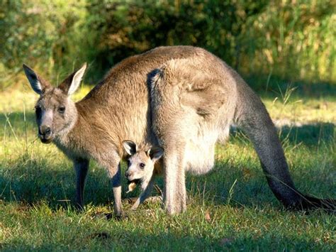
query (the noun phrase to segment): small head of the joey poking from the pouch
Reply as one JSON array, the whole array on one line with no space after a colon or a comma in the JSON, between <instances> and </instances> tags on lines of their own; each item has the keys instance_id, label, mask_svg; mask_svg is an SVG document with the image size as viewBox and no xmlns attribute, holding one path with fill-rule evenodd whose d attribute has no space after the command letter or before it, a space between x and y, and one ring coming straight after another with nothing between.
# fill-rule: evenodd
<instances>
[{"instance_id":1,"label":"small head of the joey poking from the pouch","mask_svg":"<svg viewBox=\"0 0 336 252\"><path fill-rule=\"evenodd\" d=\"M159 146L153 146L147 150L139 150L133 141L123 141L123 148L128 153L125 172L128 181L138 180L142 183L148 183L152 177L155 162L163 155L163 149Z\"/></svg>"}]
</instances>

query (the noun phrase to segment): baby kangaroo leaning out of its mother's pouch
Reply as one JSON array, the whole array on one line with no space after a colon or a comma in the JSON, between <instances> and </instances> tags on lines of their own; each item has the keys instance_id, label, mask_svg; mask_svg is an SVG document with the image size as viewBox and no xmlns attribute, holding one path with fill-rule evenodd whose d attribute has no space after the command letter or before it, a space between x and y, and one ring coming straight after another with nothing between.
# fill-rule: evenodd
<instances>
[{"instance_id":1,"label":"baby kangaroo leaning out of its mother's pouch","mask_svg":"<svg viewBox=\"0 0 336 252\"><path fill-rule=\"evenodd\" d=\"M162 165L157 162L163 155L163 148L159 146L137 146L133 141L123 141L123 148L128 154L127 170L128 192L134 190L140 182L142 193L131 207L135 210L147 199L152 192L155 175L162 174Z\"/></svg>"}]
</instances>

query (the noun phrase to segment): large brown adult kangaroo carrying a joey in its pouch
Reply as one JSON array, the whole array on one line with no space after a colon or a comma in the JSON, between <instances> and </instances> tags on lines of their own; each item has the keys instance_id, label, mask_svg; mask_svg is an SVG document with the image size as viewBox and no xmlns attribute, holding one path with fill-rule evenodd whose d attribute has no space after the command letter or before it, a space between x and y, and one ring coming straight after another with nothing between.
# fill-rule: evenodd
<instances>
[{"instance_id":1,"label":"large brown adult kangaroo carrying a joey in its pouch","mask_svg":"<svg viewBox=\"0 0 336 252\"><path fill-rule=\"evenodd\" d=\"M164 148L164 205L169 214L186 209L185 172L213 167L215 143L225 141L230 124L250 137L269 187L293 209L335 209L335 200L302 195L289 175L276 129L259 97L218 57L191 46L160 47L128 57L81 101L69 96L79 87L86 65L52 87L23 65L40 94L35 106L38 134L54 142L74 162L77 202L92 158L106 168L114 209L121 209L122 141L154 142Z\"/></svg>"}]
</instances>

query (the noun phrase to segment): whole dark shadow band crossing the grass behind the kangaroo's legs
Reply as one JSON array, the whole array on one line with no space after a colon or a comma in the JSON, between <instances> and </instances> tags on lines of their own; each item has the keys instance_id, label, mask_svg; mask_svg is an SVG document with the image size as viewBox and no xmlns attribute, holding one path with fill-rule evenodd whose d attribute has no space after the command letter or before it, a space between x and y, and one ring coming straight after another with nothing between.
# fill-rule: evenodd
<instances>
[{"instance_id":1,"label":"whole dark shadow band crossing the grass behind the kangaroo's legs","mask_svg":"<svg viewBox=\"0 0 336 252\"><path fill-rule=\"evenodd\" d=\"M39 204L46 202L52 209L74 206L75 175L69 162L60 167L50 164L50 159L13 160L13 166L0 164L0 199L4 202ZM209 204L230 204L235 207L263 207L272 204L281 207L267 184L259 164L231 165L228 160L215 163L215 168L207 175L188 175L186 188L192 199ZM320 193L330 197L332 181L316 168L309 172L291 171L293 180L304 193ZM235 182L237 180L237 182ZM163 179L157 180L163 187ZM137 197L139 190L125 194L127 183L123 181L122 197ZM305 188L311 190L307 192ZM335 191L334 191L335 192ZM332 196L332 195L331 195ZM335 196L335 195L334 195ZM106 206L113 201L111 184L105 170L91 165L86 182L84 199L86 204Z\"/></svg>"}]
</instances>

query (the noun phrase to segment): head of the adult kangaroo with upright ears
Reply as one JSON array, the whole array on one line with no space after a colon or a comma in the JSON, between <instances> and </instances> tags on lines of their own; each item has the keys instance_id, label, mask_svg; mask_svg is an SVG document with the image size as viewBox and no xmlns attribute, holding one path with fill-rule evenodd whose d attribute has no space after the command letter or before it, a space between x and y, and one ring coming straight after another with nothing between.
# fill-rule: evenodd
<instances>
[{"instance_id":1,"label":"head of the adult kangaroo with upright ears","mask_svg":"<svg viewBox=\"0 0 336 252\"><path fill-rule=\"evenodd\" d=\"M40 94L35 104L38 136L42 143L50 143L69 131L77 120L77 109L70 95L79 87L86 64L69 75L58 87L52 87L26 65L23 65L23 70L32 89Z\"/></svg>"}]
</instances>

